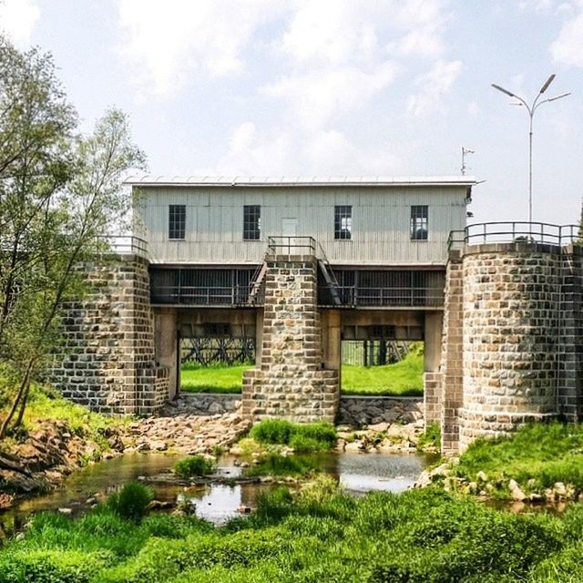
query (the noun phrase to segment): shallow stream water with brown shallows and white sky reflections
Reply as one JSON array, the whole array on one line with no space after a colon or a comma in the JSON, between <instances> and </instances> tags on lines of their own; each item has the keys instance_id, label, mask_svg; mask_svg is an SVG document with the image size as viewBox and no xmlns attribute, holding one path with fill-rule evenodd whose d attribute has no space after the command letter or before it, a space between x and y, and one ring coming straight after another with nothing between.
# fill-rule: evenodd
<instances>
[{"instance_id":1,"label":"shallow stream water with brown shallows and white sky reflections","mask_svg":"<svg viewBox=\"0 0 583 583\"><path fill-rule=\"evenodd\" d=\"M63 486L45 496L36 496L17 506L0 512L0 531L5 536L20 530L28 517L43 510L70 508L73 516L87 512L87 500L103 501L118 486L140 477L157 476L168 470L179 455L133 454L90 465L66 478ZM373 490L402 492L413 486L424 467L431 463L427 455L396 454L313 454L311 461L322 471L339 479L345 489L354 495ZM240 476L240 467L234 458L223 456L218 473L222 476ZM176 501L188 496L196 505L197 515L220 525L237 516L239 506L254 506L261 491L270 485L241 484L235 486L210 485L185 487L176 484L154 484L156 498ZM0 538L2 532L0 532Z\"/></svg>"}]
</instances>

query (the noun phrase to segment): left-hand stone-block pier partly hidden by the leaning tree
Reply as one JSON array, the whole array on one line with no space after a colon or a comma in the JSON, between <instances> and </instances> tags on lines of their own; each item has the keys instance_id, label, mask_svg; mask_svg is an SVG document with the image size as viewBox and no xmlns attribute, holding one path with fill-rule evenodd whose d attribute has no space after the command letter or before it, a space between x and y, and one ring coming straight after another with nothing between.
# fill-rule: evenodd
<instances>
[{"instance_id":1,"label":"left-hand stone-block pier partly hidden by the leaning tree","mask_svg":"<svg viewBox=\"0 0 583 583\"><path fill-rule=\"evenodd\" d=\"M89 292L66 306L51 380L95 411L150 413L168 398L169 372L154 363L148 261L110 256L83 269Z\"/></svg>"}]
</instances>

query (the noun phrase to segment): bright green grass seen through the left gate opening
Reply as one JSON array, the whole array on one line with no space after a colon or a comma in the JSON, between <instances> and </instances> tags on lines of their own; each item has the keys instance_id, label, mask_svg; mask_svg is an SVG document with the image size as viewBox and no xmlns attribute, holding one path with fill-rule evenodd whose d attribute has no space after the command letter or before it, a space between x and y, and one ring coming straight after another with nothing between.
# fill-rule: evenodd
<instances>
[{"instance_id":1,"label":"bright green grass seen through the left gate opening","mask_svg":"<svg viewBox=\"0 0 583 583\"><path fill-rule=\"evenodd\" d=\"M200 366L185 363L180 368L180 388L188 393L240 393L243 372L251 364Z\"/></svg>"}]
</instances>

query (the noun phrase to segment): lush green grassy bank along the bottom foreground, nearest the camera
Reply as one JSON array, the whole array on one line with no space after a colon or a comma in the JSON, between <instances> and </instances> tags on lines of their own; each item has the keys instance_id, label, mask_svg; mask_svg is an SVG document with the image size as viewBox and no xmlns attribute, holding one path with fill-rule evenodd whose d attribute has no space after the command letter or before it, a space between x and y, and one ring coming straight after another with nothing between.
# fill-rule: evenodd
<instances>
[{"instance_id":1,"label":"lush green grassy bank along the bottom foreground, nearest the camera","mask_svg":"<svg viewBox=\"0 0 583 583\"><path fill-rule=\"evenodd\" d=\"M583 507L514 516L429 488L355 499L321 481L278 489L213 528L195 517L141 523L112 507L38 516L0 549L0 583L510 583L583 578Z\"/></svg>"}]
</instances>

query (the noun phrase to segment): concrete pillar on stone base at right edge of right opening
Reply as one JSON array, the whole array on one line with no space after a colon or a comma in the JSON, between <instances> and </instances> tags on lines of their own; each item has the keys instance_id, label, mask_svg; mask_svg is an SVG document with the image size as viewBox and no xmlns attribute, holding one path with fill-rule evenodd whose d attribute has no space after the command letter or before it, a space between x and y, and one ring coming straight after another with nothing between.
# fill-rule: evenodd
<instances>
[{"instance_id":1,"label":"concrete pillar on stone base at right edge of right opening","mask_svg":"<svg viewBox=\"0 0 583 583\"><path fill-rule=\"evenodd\" d=\"M443 312L425 312L424 320L424 418L425 424L441 421L441 346Z\"/></svg>"}]
</instances>

